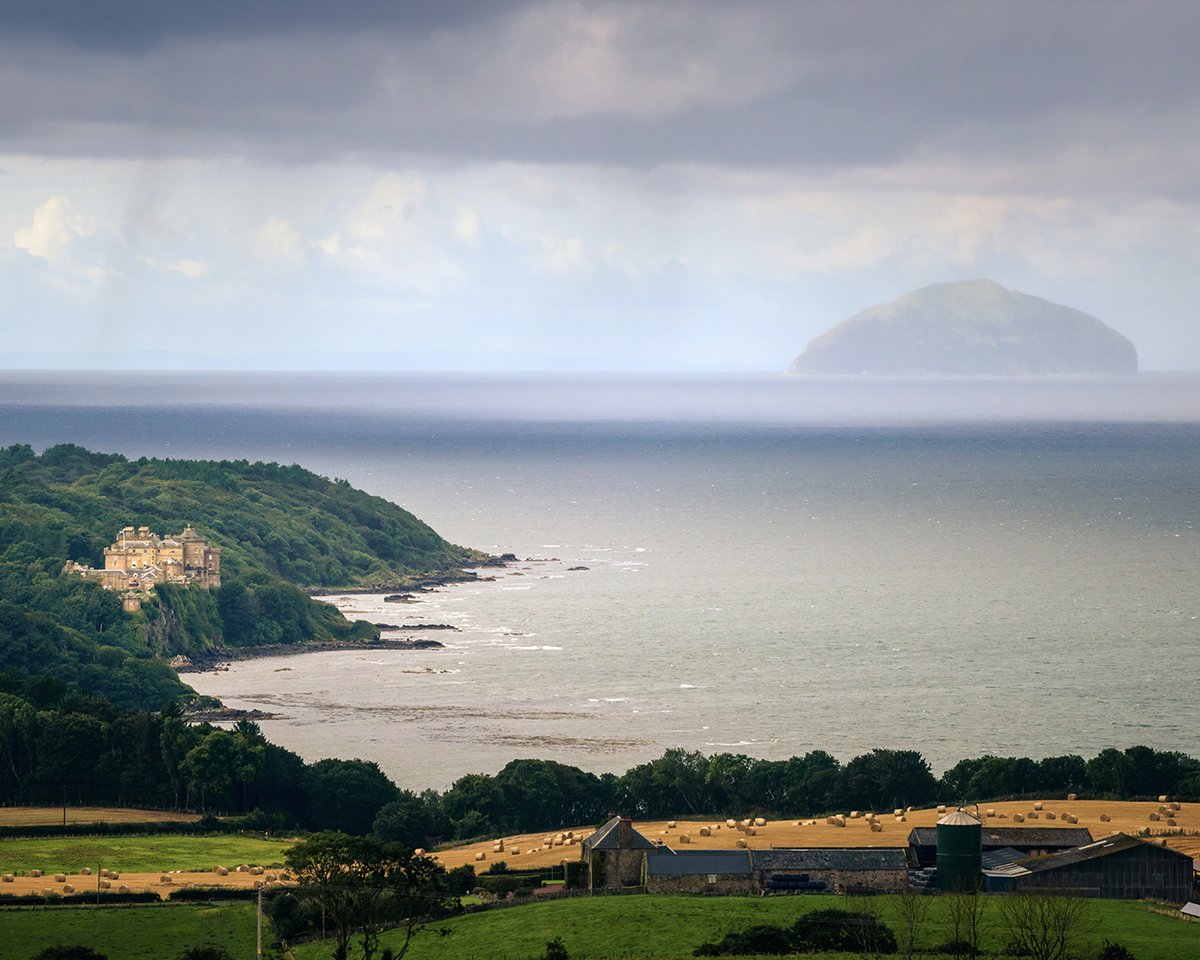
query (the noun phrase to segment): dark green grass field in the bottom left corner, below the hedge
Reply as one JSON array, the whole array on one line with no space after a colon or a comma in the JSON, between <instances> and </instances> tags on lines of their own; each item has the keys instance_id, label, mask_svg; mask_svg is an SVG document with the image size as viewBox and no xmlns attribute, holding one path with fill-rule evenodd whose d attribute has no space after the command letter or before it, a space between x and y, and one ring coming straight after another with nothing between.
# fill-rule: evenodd
<instances>
[{"instance_id":1,"label":"dark green grass field in the bottom left corner, below the hedge","mask_svg":"<svg viewBox=\"0 0 1200 960\"><path fill-rule=\"evenodd\" d=\"M172 960L204 943L253 956L253 904L0 910L0 960L55 944L84 944L109 960Z\"/></svg>"}]
</instances>

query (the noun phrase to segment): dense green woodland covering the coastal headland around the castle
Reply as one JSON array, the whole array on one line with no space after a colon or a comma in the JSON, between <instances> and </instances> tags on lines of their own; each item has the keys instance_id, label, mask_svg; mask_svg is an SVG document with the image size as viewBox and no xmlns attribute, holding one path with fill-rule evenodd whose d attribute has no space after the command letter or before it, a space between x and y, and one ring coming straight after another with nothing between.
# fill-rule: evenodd
<instances>
[{"instance_id":1,"label":"dense green woodland covering the coastal headland around the castle","mask_svg":"<svg viewBox=\"0 0 1200 960\"><path fill-rule=\"evenodd\" d=\"M222 587L160 586L128 614L113 592L62 572L67 560L102 566L130 523L193 523L222 548ZM0 450L0 678L158 709L192 696L162 658L377 636L307 588L401 587L480 559L395 504L301 467L14 445Z\"/></svg>"}]
</instances>

